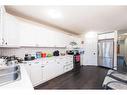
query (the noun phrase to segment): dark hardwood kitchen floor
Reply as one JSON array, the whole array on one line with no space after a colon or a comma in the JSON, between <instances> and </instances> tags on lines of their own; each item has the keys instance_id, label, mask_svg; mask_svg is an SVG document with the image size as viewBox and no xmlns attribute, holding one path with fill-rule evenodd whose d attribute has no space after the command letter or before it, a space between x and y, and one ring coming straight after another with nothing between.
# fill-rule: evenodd
<instances>
[{"instance_id":1,"label":"dark hardwood kitchen floor","mask_svg":"<svg viewBox=\"0 0 127 95\"><path fill-rule=\"evenodd\" d=\"M79 70L67 72L34 89L103 89L102 83L107 71L103 67L82 66Z\"/></svg>"}]
</instances>

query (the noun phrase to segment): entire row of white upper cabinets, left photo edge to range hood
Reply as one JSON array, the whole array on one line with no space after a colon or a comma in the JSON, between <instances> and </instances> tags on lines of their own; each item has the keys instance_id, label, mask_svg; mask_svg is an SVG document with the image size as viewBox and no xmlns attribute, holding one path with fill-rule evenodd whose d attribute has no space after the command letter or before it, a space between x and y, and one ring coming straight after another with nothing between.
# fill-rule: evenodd
<instances>
[{"instance_id":1,"label":"entire row of white upper cabinets, left photo edge to range hood","mask_svg":"<svg viewBox=\"0 0 127 95\"><path fill-rule=\"evenodd\" d=\"M72 41L79 43L79 38L17 19L6 13L4 7L0 10L0 47L68 47Z\"/></svg>"}]
</instances>

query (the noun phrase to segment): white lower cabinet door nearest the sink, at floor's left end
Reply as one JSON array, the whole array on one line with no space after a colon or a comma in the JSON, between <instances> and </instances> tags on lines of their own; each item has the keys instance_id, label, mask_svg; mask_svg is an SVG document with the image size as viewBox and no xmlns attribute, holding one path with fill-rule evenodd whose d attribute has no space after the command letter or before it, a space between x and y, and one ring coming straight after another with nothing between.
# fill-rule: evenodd
<instances>
[{"instance_id":1,"label":"white lower cabinet door nearest the sink, at floor's left end","mask_svg":"<svg viewBox=\"0 0 127 95\"><path fill-rule=\"evenodd\" d=\"M33 86L36 86L42 82L42 69L41 64L31 64L30 77Z\"/></svg>"}]
</instances>

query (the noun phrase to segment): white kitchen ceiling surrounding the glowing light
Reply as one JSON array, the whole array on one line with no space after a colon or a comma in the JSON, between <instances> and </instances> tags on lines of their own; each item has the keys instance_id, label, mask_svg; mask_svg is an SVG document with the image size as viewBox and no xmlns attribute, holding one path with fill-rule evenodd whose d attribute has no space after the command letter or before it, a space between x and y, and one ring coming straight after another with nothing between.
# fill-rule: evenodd
<instances>
[{"instance_id":1,"label":"white kitchen ceiling surrounding the glowing light","mask_svg":"<svg viewBox=\"0 0 127 95\"><path fill-rule=\"evenodd\" d=\"M127 29L127 6L6 6L12 12L38 19L73 33ZM47 11L62 14L53 19Z\"/></svg>"}]
</instances>

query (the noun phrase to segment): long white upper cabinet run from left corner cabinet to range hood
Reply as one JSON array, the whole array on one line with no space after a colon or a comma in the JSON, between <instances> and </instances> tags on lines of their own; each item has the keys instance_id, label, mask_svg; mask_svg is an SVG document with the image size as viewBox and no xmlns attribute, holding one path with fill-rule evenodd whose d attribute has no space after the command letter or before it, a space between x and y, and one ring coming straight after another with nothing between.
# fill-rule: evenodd
<instances>
[{"instance_id":1,"label":"long white upper cabinet run from left corner cabinet to range hood","mask_svg":"<svg viewBox=\"0 0 127 95\"><path fill-rule=\"evenodd\" d=\"M20 46L67 47L72 41L70 35L61 31L55 31L25 21L19 21L19 25Z\"/></svg>"}]
</instances>

